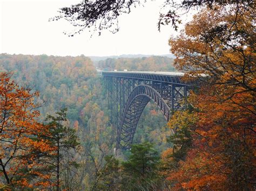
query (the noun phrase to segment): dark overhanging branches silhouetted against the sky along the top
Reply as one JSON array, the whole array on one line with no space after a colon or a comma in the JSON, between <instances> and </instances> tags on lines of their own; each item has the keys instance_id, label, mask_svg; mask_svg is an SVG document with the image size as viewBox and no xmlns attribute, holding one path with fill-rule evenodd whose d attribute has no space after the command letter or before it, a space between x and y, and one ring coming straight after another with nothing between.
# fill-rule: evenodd
<instances>
[{"instance_id":1,"label":"dark overhanging branches silhouetted against the sky along the top","mask_svg":"<svg viewBox=\"0 0 256 191\"><path fill-rule=\"evenodd\" d=\"M143 4L146 1L91 1L85 0L82 3L72 5L71 7L65 7L60 9L60 15L52 18L51 20L65 19L68 20L77 31L69 36L80 33L85 29L99 31L109 29L113 33L119 31L118 18L123 13L130 13L132 8ZM254 6L253 0L248 1L215 1L215 0L197 0L197 1L170 1L166 0L163 4L163 8L168 8L167 12L161 12L159 15L158 30L160 31L161 25L172 24L174 29L178 29L178 23L180 23L180 17L192 9L198 9L204 6L212 8L213 5L232 5L237 4L243 7ZM165 9L163 9L165 10ZM185 10L185 11L184 11ZM92 29L94 27L94 29ZM90 31L89 31L90 32Z\"/></svg>"}]
</instances>

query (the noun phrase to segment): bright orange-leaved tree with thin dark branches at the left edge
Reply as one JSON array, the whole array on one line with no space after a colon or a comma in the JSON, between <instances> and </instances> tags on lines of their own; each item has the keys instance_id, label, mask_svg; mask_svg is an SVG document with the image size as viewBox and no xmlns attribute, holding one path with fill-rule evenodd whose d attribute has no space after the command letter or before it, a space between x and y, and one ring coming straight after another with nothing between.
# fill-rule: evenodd
<instances>
[{"instance_id":1,"label":"bright orange-leaved tree with thin dark branches at the left edge","mask_svg":"<svg viewBox=\"0 0 256 191\"><path fill-rule=\"evenodd\" d=\"M50 174L41 172L40 157L55 148L42 138L48 128L36 120L38 92L30 91L11 80L11 73L0 73L0 183L45 188Z\"/></svg>"}]
</instances>

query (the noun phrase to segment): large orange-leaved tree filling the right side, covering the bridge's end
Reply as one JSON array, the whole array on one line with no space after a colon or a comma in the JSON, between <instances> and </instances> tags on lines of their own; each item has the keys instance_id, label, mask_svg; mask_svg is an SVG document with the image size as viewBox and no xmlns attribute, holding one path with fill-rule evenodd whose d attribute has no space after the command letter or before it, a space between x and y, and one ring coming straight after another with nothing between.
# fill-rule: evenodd
<instances>
[{"instance_id":1,"label":"large orange-leaved tree filling the right side, covering the bridge's end","mask_svg":"<svg viewBox=\"0 0 256 191\"><path fill-rule=\"evenodd\" d=\"M239 3L205 9L170 39L176 67L186 71L187 80L196 78L200 84L190 96L196 117L187 127L192 148L167 173L174 188L256 187L254 14L255 9ZM170 125L180 116L173 116Z\"/></svg>"}]
</instances>

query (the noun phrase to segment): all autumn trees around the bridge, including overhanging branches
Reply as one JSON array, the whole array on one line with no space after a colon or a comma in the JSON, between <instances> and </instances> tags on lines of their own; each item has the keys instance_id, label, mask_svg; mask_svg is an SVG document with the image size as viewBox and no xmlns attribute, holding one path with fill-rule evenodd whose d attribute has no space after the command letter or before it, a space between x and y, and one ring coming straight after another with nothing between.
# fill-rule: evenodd
<instances>
[{"instance_id":1,"label":"all autumn trees around the bridge, including overhanging branches","mask_svg":"<svg viewBox=\"0 0 256 191\"><path fill-rule=\"evenodd\" d=\"M0 190L256 189L254 2L180 2L166 1L158 23L180 30L166 42L175 58L0 54ZM53 19L71 36L118 32L115 20L140 4L84 1ZM180 9L197 10L184 27ZM131 149L116 150L96 69L184 72L188 107L166 123L149 102Z\"/></svg>"}]
</instances>

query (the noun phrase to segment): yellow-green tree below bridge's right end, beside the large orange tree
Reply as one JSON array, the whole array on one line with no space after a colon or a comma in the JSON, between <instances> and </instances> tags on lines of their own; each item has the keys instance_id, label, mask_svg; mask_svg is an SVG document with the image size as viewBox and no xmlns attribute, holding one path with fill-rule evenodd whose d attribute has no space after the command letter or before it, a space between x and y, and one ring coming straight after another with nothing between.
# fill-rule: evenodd
<instances>
[{"instance_id":1,"label":"yellow-green tree below bridge's right end, beside the large orange tree","mask_svg":"<svg viewBox=\"0 0 256 191\"><path fill-rule=\"evenodd\" d=\"M175 112L169 123L167 123L168 128L175 133L168 139L172 147L167 148L161 154L160 174L166 177L166 184L172 190L181 188L179 181L183 179L183 174L179 173L180 164L187 159L187 154L194 149L193 133L198 122L198 117L197 111L193 111L191 107L189 108L186 111ZM176 178L171 178L173 174L177 175L179 181Z\"/></svg>"}]
</instances>

